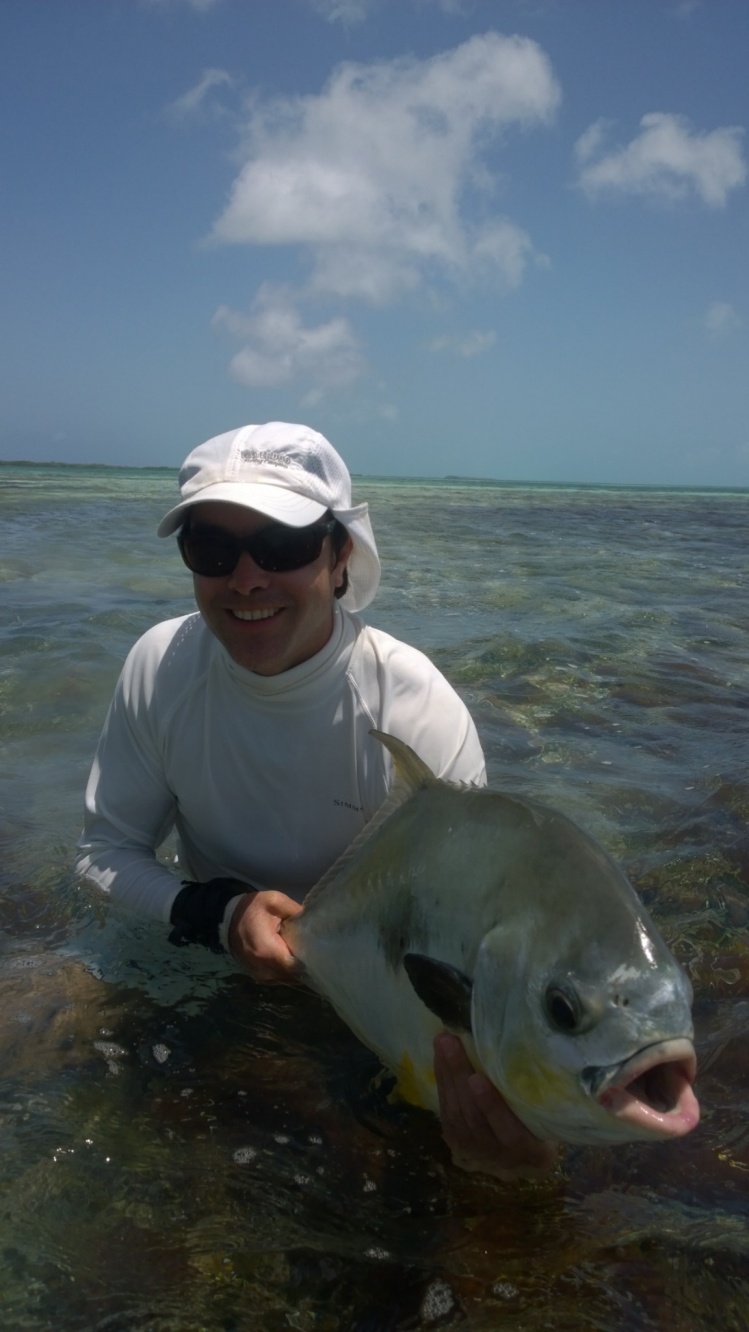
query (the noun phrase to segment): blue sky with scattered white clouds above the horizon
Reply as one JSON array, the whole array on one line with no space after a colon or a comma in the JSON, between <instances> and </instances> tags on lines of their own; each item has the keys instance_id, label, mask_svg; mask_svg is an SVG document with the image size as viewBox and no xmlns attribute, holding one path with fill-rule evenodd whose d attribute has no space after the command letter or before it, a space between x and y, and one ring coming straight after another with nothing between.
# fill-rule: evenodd
<instances>
[{"instance_id":1,"label":"blue sky with scattered white clouds above the horizon","mask_svg":"<svg viewBox=\"0 0 749 1332\"><path fill-rule=\"evenodd\" d=\"M749 486L746 0L3 0L0 458Z\"/></svg>"}]
</instances>

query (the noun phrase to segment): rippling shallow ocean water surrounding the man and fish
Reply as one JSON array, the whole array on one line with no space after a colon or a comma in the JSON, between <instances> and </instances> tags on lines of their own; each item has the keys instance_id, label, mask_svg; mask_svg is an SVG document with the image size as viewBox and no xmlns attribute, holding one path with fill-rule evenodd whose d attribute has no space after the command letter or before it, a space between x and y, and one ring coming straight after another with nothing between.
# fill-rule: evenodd
<instances>
[{"instance_id":1,"label":"rippling shallow ocean water surrounding the man and fish","mask_svg":"<svg viewBox=\"0 0 749 1332\"><path fill-rule=\"evenodd\" d=\"M505 1185L327 1006L119 919L71 864L135 638L192 609L176 473L0 465L0 1327L749 1327L749 492L355 478L367 613L496 787L622 863L694 986L702 1124Z\"/></svg>"}]
</instances>

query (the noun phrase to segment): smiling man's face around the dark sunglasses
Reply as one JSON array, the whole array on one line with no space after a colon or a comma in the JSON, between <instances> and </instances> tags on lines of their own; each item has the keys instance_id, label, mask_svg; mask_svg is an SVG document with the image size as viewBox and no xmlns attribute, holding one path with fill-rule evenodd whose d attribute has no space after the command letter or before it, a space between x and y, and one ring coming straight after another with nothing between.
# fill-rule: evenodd
<instances>
[{"instance_id":1,"label":"smiling man's face around the dark sunglasses","mask_svg":"<svg viewBox=\"0 0 749 1332\"><path fill-rule=\"evenodd\" d=\"M271 525L253 509L211 501L195 505L191 522L221 527L235 537L252 537ZM244 550L235 571L223 578L192 575L197 607L239 666L257 675L280 675L328 642L335 593L351 549L349 539L336 558L331 537L325 537L319 558L289 573L267 573Z\"/></svg>"}]
</instances>

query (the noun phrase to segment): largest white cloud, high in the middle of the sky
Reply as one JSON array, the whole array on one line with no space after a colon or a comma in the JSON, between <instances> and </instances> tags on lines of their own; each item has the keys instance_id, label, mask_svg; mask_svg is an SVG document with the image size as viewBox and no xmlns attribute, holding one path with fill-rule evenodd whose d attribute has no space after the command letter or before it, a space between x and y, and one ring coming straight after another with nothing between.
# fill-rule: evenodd
<instances>
[{"instance_id":1,"label":"largest white cloud, high in the middle of the sky","mask_svg":"<svg viewBox=\"0 0 749 1332\"><path fill-rule=\"evenodd\" d=\"M493 32L428 60L341 65L317 96L251 103L212 236L304 246L307 296L384 304L436 274L517 284L534 249L490 217L484 155L509 128L548 123L558 100L541 48Z\"/></svg>"}]
</instances>

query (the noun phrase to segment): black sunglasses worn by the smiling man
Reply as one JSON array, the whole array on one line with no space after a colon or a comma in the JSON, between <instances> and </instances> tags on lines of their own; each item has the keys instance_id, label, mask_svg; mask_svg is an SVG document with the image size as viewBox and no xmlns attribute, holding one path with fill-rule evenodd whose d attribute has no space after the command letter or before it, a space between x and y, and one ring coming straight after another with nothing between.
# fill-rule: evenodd
<instances>
[{"instance_id":1,"label":"black sunglasses worn by the smiling man","mask_svg":"<svg viewBox=\"0 0 749 1332\"><path fill-rule=\"evenodd\" d=\"M267 573L291 573L319 558L325 537L336 526L335 518L313 522L309 527L288 527L275 522L253 537L235 537L223 527L187 526L177 533L180 554L193 574L201 578L225 578L240 562L243 550Z\"/></svg>"}]
</instances>

